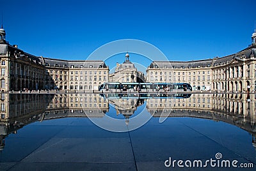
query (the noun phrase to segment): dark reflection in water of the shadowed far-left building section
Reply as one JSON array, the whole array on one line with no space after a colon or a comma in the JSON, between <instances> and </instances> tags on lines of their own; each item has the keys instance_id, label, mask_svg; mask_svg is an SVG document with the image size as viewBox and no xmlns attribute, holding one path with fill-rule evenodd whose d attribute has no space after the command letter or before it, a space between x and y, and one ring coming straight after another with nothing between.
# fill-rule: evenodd
<instances>
[{"instance_id":1,"label":"dark reflection in water of the shadowed far-left building section","mask_svg":"<svg viewBox=\"0 0 256 171\"><path fill-rule=\"evenodd\" d=\"M51 98L51 94L1 94L0 150L6 136L38 121Z\"/></svg>"}]
</instances>

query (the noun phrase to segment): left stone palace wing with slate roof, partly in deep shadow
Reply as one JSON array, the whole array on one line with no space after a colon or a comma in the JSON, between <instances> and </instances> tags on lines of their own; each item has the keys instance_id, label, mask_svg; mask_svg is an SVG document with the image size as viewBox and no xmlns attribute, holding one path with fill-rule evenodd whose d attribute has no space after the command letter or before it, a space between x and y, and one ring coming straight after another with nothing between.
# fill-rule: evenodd
<instances>
[{"instance_id":1,"label":"left stone palace wing with slate roof, partly in deep shadow","mask_svg":"<svg viewBox=\"0 0 256 171\"><path fill-rule=\"evenodd\" d=\"M97 90L109 82L109 68L104 61L69 61L36 57L5 40L0 29L1 91L59 89Z\"/></svg>"}]
</instances>

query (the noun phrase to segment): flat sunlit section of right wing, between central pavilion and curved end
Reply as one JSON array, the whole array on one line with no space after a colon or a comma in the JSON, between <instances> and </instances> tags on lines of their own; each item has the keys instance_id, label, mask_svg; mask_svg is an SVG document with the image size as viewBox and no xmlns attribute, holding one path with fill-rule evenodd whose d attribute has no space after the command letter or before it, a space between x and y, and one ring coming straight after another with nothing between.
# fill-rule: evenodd
<instances>
[{"instance_id":1,"label":"flat sunlit section of right wing, between central pavilion and curved end","mask_svg":"<svg viewBox=\"0 0 256 171\"><path fill-rule=\"evenodd\" d=\"M193 91L211 89L212 60L154 61L147 68L147 82L187 82Z\"/></svg>"}]
</instances>

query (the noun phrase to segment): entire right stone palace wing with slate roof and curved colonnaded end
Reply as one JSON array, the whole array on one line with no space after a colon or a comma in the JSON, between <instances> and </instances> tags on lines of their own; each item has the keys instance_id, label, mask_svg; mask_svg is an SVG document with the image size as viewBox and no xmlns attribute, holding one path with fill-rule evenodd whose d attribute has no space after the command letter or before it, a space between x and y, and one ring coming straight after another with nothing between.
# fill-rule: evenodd
<instances>
[{"instance_id":1,"label":"entire right stone palace wing with slate roof and curved colonnaded end","mask_svg":"<svg viewBox=\"0 0 256 171\"><path fill-rule=\"evenodd\" d=\"M236 54L200 61L153 61L147 82L188 82L193 91L252 91L256 89L256 31L252 45Z\"/></svg>"}]
</instances>

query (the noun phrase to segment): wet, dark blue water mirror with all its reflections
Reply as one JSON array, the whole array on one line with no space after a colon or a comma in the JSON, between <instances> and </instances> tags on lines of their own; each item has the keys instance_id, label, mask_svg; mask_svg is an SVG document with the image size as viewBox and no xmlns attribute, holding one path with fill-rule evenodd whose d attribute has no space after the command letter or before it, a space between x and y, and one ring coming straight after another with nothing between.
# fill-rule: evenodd
<instances>
[{"instance_id":1,"label":"wet, dark blue water mirror with all its reflections","mask_svg":"<svg viewBox=\"0 0 256 171\"><path fill-rule=\"evenodd\" d=\"M202 160L204 167L211 158L256 167L255 98L211 93L1 94L0 168L179 170L177 163L169 165L170 159L183 160L183 165L191 160L193 168L193 160ZM220 170L210 163L205 167Z\"/></svg>"}]
</instances>

